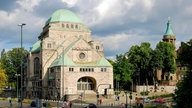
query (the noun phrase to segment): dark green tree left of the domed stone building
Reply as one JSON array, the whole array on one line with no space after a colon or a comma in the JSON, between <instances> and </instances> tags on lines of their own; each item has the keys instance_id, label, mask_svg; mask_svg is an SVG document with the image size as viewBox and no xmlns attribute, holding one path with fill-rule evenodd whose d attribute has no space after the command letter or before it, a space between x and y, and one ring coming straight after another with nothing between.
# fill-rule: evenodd
<instances>
[{"instance_id":1,"label":"dark green tree left of the domed stone building","mask_svg":"<svg viewBox=\"0 0 192 108\"><path fill-rule=\"evenodd\" d=\"M16 75L20 74L20 66L21 66L21 58L22 61L25 60L25 56L27 54L27 51L22 48L13 48L12 50L9 50L8 52L5 52L3 50L1 52L1 65L2 68L5 70L5 73L8 77L8 83L10 86L13 86L12 84L15 84L16 81Z\"/></svg>"}]
</instances>

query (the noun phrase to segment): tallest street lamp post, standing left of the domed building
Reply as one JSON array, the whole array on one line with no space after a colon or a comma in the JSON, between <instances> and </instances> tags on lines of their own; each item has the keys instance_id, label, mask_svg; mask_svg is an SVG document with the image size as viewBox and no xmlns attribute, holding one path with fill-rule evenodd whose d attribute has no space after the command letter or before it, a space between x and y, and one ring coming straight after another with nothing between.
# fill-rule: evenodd
<instances>
[{"instance_id":1,"label":"tallest street lamp post, standing left of the domed building","mask_svg":"<svg viewBox=\"0 0 192 108\"><path fill-rule=\"evenodd\" d=\"M22 100L23 100L23 57L22 57L22 44L23 44L23 26L25 26L26 24L25 23L21 23L21 24L18 24L18 26L21 27L21 93L20 93L20 97L21 97L21 108L22 108Z\"/></svg>"}]
</instances>

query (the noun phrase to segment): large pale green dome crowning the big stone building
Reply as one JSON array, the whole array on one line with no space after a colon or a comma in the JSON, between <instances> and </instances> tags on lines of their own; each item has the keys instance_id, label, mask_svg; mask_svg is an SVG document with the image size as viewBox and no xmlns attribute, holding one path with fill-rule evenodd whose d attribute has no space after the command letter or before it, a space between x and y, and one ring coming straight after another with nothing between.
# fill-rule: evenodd
<instances>
[{"instance_id":1,"label":"large pale green dome crowning the big stone building","mask_svg":"<svg viewBox=\"0 0 192 108\"><path fill-rule=\"evenodd\" d=\"M51 17L46 21L45 25L50 22L82 23L82 19L69 10L60 9L51 15Z\"/></svg>"}]
</instances>

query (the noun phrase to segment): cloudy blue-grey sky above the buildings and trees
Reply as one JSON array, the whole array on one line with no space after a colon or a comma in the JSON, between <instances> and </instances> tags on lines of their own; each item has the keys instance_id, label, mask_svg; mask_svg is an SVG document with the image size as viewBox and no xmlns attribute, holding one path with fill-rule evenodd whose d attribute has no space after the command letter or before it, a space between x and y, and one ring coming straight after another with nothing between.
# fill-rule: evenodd
<instances>
[{"instance_id":1,"label":"cloudy blue-grey sky above the buildings and trees","mask_svg":"<svg viewBox=\"0 0 192 108\"><path fill-rule=\"evenodd\" d=\"M150 42L154 49L166 31L168 17L176 37L192 39L192 0L0 0L0 51L21 46L27 50L38 40L46 20L58 9L68 9L104 44L106 58L114 59L131 46Z\"/></svg>"}]
</instances>

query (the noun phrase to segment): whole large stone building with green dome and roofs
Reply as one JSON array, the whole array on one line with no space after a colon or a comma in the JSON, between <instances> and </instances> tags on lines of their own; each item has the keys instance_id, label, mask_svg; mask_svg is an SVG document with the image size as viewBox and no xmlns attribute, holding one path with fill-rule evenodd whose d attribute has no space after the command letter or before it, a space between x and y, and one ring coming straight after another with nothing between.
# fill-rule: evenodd
<instances>
[{"instance_id":1,"label":"whole large stone building with green dome and roofs","mask_svg":"<svg viewBox=\"0 0 192 108\"><path fill-rule=\"evenodd\" d=\"M27 79L27 97L113 94L113 67L104 58L102 42L92 40L79 17L64 9L53 13L32 46Z\"/></svg>"}]
</instances>

